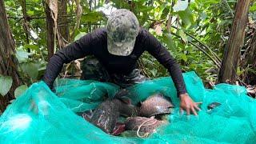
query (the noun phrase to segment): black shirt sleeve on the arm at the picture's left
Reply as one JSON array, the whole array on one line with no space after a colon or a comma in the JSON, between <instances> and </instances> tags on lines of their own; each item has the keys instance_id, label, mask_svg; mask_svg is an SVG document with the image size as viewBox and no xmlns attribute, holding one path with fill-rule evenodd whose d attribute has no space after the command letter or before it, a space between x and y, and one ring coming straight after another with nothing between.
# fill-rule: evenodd
<instances>
[{"instance_id":1,"label":"black shirt sleeve on the arm at the picture's left","mask_svg":"<svg viewBox=\"0 0 256 144\"><path fill-rule=\"evenodd\" d=\"M69 46L66 46L62 50L58 50L58 52L50 58L42 80L52 88L54 80L61 72L64 63L69 63L75 59L83 58L86 55L92 54L91 46L94 43L94 39L93 34L86 34L82 38L71 43Z\"/></svg>"}]
</instances>

